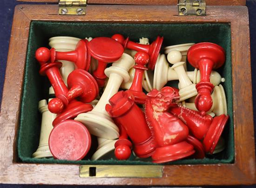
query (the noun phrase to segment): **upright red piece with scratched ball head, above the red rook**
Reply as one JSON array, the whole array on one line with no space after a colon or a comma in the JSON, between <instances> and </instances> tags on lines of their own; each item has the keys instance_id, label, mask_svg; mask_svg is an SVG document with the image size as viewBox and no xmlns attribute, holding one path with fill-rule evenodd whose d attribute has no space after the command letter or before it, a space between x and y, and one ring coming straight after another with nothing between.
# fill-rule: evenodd
<instances>
[{"instance_id":1,"label":"upright red piece with scratched ball head, above the red rook","mask_svg":"<svg viewBox=\"0 0 256 188\"><path fill-rule=\"evenodd\" d=\"M135 75L129 91L133 94L136 103L144 104L147 95L142 91L142 79L144 71L148 70L144 65L148 63L149 56L145 52L137 52L134 59L137 65L134 66Z\"/></svg>"}]
</instances>

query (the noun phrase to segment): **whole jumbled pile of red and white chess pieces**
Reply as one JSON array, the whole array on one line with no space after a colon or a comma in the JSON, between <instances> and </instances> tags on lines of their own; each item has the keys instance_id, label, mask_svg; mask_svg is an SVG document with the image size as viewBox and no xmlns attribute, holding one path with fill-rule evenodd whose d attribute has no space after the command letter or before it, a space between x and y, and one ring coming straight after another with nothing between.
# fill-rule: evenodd
<instances>
[{"instance_id":1,"label":"whole jumbled pile of red and white chess pieces","mask_svg":"<svg viewBox=\"0 0 256 188\"><path fill-rule=\"evenodd\" d=\"M82 160L91 135L98 141L92 160L128 160L133 154L164 163L224 150L225 79L213 71L224 64L224 49L187 43L166 46L161 54L163 40L60 36L49 39L51 49L38 48L39 73L55 97L39 101L41 133L33 157ZM187 58L194 71L187 71ZM167 86L172 80L179 89Z\"/></svg>"}]
</instances>

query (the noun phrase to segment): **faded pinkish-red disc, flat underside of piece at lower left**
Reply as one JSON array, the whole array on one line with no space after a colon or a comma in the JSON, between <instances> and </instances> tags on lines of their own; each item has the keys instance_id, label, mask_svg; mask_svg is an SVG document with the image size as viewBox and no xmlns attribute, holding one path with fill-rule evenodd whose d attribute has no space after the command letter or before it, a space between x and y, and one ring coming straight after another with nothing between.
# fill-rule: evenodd
<instances>
[{"instance_id":1,"label":"faded pinkish-red disc, flat underside of piece at lower left","mask_svg":"<svg viewBox=\"0 0 256 188\"><path fill-rule=\"evenodd\" d=\"M80 122L66 120L57 124L49 137L49 148L56 159L81 160L91 147L91 136Z\"/></svg>"}]
</instances>

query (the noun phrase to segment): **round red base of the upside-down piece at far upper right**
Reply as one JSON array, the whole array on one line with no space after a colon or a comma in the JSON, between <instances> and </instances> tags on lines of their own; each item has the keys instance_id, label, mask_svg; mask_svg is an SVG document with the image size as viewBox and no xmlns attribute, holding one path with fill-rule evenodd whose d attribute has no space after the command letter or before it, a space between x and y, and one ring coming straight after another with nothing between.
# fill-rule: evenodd
<instances>
[{"instance_id":1,"label":"round red base of the upside-down piece at far upper right","mask_svg":"<svg viewBox=\"0 0 256 188\"><path fill-rule=\"evenodd\" d=\"M217 69L225 62L225 51L220 45L210 42L202 42L192 45L188 50L188 61L199 69L198 62L207 58L214 62L213 69Z\"/></svg>"}]
</instances>

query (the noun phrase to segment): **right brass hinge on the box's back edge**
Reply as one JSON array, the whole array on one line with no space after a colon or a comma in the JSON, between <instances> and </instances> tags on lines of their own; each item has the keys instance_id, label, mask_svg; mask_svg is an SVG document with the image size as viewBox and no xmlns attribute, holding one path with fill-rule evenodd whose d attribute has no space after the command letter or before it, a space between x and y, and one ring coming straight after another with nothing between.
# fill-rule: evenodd
<instances>
[{"instance_id":1,"label":"right brass hinge on the box's back edge","mask_svg":"<svg viewBox=\"0 0 256 188\"><path fill-rule=\"evenodd\" d=\"M179 15L205 16L205 0L179 0Z\"/></svg>"}]
</instances>

